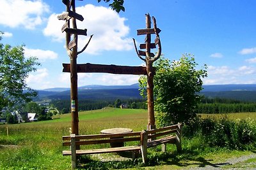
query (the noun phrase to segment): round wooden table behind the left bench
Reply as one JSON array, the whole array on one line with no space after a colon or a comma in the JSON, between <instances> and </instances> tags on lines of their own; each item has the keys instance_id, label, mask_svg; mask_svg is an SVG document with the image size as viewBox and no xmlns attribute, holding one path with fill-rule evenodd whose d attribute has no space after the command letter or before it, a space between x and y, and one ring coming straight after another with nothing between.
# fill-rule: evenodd
<instances>
[{"instance_id":1,"label":"round wooden table behind the left bench","mask_svg":"<svg viewBox=\"0 0 256 170\"><path fill-rule=\"evenodd\" d=\"M101 134L120 134L120 133L127 133L127 132L132 132L132 129L124 128L124 127L115 127L115 128L111 128L111 129L103 129L102 131L100 131ZM118 137L118 138L120 138L120 137ZM116 139L118 139L118 138L116 138ZM110 143L110 146L112 148L122 147L122 146L124 146L124 143L123 142Z\"/></svg>"}]
</instances>

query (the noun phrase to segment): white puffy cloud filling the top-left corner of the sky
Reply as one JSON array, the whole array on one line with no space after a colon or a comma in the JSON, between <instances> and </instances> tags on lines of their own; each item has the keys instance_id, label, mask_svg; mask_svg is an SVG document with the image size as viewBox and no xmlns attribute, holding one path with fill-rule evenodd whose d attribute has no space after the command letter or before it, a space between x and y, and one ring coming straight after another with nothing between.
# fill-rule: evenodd
<instances>
[{"instance_id":1,"label":"white puffy cloud filling the top-left corner of the sky","mask_svg":"<svg viewBox=\"0 0 256 170\"><path fill-rule=\"evenodd\" d=\"M49 6L41 0L0 0L0 4L0 24L8 27L35 29L42 24L44 13L49 12Z\"/></svg>"}]
</instances>

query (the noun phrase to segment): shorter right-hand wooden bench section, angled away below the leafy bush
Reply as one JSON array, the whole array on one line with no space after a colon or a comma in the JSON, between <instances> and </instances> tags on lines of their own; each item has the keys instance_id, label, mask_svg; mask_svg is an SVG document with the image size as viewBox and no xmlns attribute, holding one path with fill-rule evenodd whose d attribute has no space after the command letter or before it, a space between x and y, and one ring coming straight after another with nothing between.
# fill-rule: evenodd
<instances>
[{"instance_id":1,"label":"shorter right-hand wooden bench section, angled away below the leafy bush","mask_svg":"<svg viewBox=\"0 0 256 170\"><path fill-rule=\"evenodd\" d=\"M162 145L162 152L166 152L166 144L171 143L177 146L177 152L181 147L181 127L182 124L171 125L159 129L152 129L141 132L141 155L143 163L147 162L147 148Z\"/></svg>"}]
</instances>

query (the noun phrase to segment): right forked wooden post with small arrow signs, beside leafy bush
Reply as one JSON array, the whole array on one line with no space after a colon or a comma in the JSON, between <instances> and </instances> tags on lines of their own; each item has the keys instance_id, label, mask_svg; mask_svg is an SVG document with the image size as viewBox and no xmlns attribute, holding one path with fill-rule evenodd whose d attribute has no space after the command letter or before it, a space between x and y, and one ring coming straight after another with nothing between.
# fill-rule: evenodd
<instances>
[{"instance_id":1,"label":"right forked wooden post with small arrow signs, beside leafy bush","mask_svg":"<svg viewBox=\"0 0 256 170\"><path fill-rule=\"evenodd\" d=\"M156 129L155 125L155 115L154 115L154 67L153 67L153 62L159 59L161 56L161 42L159 38L159 32L161 31L159 28L156 26L156 18L152 17L153 24L154 24L154 29L151 29L151 22L150 22L150 15L146 14L146 29L138 29L137 34L142 35L142 34L147 34L145 38L145 44L141 44L140 48L141 49L146 49L146 52L137 50L135 39L134 41L134 46L136 53L138 57L140 57L141 60L146 62L147 66L147 102L148 102L148 125L147 129ZM151 43L151 34L156 34L156 39L155 43ZM156 55L154 53L150 53L150 48L156 48L156 45L158 45L158 52ZM144 55L145 58L141 57L141 55Z\"/></svg>"}]
</instances>

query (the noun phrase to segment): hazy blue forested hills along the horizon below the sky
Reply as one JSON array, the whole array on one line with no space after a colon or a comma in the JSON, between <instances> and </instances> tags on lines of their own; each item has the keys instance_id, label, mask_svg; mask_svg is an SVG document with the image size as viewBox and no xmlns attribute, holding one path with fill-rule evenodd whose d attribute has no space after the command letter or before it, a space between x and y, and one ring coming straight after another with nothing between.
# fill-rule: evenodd
<instances>
[{"instance_id":1,"label":"hazy blue forested hills along the horizon below the sky","mask_svg":"<svg viewBox=\"0 0 256 170\"><path fill-rule=\"evenodd\" d=\"M206 97L220 97L256 102L256 85L204 85L201 94ZM86 85L78 88L79 99L115 100L141 99L138 83L133 85ZM45 99L70 99L69 88L38 90L36 101Z\"/></svg>"}]
</instances>

